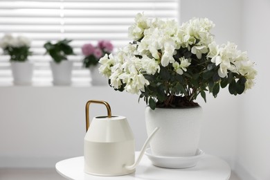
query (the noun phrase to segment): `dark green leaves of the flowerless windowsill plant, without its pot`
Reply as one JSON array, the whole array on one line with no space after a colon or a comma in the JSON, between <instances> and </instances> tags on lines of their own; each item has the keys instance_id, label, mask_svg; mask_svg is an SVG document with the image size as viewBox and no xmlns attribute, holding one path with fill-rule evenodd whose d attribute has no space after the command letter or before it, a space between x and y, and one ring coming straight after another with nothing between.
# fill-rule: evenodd
<instances>
[{"instance_id":1,"label":"dark green leaves of the flowerless windowsill plant, without its pot","mask_svg":"<svg viewBox=\"0 0 270 180\"><path fill-rule=\"evenodd\" d=\"M69 39L62 39L54 44L52 42L46 42L44 48L46 49L46 53L51 55L56 63L60 63L62 60L68 60L67 55L74 55L73 47L69 45L71 41Z\"/></svg>"}]
</instances>

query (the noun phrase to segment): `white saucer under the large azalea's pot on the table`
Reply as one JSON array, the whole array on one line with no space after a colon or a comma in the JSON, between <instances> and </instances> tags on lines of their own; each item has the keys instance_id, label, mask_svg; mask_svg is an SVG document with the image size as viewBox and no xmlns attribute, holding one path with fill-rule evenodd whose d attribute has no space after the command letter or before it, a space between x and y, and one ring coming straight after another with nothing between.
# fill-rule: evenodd
<instances>
[{"instance_id":1,"label":"white saucer under the large azalea's pot on the table","mask_svg":"<svg viewBox=\"0 0 270 180\"><path fill-rule=\"evenodd\" d=\"M151 149L148 148L145 151L145 155L148 156L153 165L159 166L161 168L191 168L197 165L199 159L204 156L204 152L198 149L195 156L154 156L154 154L151 152Z\"/></svg>"}]
</instances>

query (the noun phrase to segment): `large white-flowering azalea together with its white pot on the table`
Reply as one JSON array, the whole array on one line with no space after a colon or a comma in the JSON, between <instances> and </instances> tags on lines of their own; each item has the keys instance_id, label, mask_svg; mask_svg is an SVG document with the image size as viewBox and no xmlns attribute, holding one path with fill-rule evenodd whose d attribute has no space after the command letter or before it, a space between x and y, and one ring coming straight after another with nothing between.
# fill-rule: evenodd
<instances>
[{"instance_id":1,"label":"large white-flowering azalea together with its white pot on the table","mask_svg":"<svg viewBox=\"0 0 270 180\"><path fill-rule=\"evenodd\" d=\"M197 97L206 101L206 92L217 97L225 87L242 94L254 84L253 62L231 42L217 45L214 26L206 18L179 26L138 14L129 28L133 42L99 61L112 88L145 100L147 134L161 127L150 142L154 156L195 156L202 118Z\"/></svg>"}]
</instances>

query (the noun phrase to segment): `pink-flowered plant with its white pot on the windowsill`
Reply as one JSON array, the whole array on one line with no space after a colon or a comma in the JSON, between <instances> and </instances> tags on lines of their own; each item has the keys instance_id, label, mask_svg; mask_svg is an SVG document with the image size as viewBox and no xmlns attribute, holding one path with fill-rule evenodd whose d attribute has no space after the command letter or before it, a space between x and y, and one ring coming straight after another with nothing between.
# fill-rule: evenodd
<instances>
[{"instance_id":1,"label":"pink-flowered plant with its white pot on the windowsill","mask_svg":"<svg viewBox=\"0 0 270 180\"><path fill-rule=\"evenodd\" d=\"M106 78L103 78L102 75L98 72L100 64L98 60L100 57L106 53L111 53L114 49L114 46L111 42L106 40L101 40L98 42L97 46L92 44L84 44L82 46L82 54L84 55L83 66L89 68L91 74L91 84L93 85L104 85L107 84Z\"/></svg>"}]
</instances>

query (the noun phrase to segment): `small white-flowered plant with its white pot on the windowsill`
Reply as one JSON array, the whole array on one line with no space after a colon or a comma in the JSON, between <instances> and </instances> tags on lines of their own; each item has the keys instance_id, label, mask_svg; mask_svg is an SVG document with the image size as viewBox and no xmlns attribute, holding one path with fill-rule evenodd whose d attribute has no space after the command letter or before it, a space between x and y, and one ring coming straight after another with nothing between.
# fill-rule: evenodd
<instances>
[{"instance_id":1,"label":"small white-flowered plant with its white pot on the windowsill","mask_svg":"<svg viewBox=\"0 0 270 180\"><path fill-rule=\"evenodd\" d=\"M10 55L10 64L14 84L28 85L32 83L33 63L28 61L30 52L30 39L24 36L14 37L4 35L0 41L5 55Z\"/></svg>"}]
</instances>

